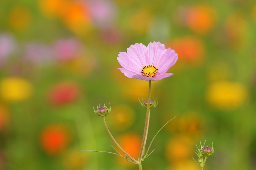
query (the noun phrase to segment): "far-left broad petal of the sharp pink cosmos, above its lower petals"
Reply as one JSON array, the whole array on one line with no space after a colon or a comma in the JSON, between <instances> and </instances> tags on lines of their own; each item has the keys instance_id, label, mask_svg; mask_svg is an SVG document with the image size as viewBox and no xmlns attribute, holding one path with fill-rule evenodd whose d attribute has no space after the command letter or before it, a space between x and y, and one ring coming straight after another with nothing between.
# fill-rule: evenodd
<instances>
[{"instance_id":1,"label":"far-left broad petal of the sharp pink cosmos, above its lower petals","mask_svg":"<svg viewBox=\"0 0 256 170\"><path fill-rule=\"evenodd\" d=\"M119 53L117 60L123 68L126 68L127 70L132 72L141 73L141 69L143 68L143 66L141 66L137 60L132 58L126 52Z\"/></svg>"}]
</instances>

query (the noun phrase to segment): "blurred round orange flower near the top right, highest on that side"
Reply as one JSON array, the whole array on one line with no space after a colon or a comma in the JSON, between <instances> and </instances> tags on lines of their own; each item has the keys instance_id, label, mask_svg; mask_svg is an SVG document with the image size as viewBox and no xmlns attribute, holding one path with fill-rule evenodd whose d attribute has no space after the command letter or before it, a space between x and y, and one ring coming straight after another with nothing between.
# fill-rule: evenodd
<instances>
[{"instance_id":1,"label":"blurred round orange flower near the top right, highest on that side","mask_svg":"<svg viewBox=\"0 0 256 170\"><path fill-rule=\"evenodd\" d=\"M200 4L189 9L186 22L189 28L198 33L205 34L211 31L216 20L216 11L213 7Z\"/></svg>"}]
</instances>

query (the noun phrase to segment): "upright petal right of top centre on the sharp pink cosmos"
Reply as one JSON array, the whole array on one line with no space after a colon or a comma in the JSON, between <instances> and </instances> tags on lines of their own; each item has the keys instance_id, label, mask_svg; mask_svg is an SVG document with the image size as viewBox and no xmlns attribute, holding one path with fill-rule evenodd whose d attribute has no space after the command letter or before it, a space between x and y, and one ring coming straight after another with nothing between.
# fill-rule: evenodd
<instances>
[{"instance_id":1,"label":"upright petal right of top centre on the sharp pink cosmos","mask_svg":"<svg viewBox=\"0 0 256 170\"><path fill-rule=\"evenodd\" d=\"M160 42L152 42L147 46L147 65L155 65L155 62L158 60L160 54L165 50L165 45Z\"/></svg>"}]
</instances>

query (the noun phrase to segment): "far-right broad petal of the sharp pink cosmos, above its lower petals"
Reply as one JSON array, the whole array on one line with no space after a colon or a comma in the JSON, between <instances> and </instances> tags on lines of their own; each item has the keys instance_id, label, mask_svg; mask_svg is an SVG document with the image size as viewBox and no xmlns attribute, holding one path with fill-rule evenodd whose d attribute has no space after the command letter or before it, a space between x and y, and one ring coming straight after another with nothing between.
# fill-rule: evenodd
<instances>
[{"instance_id":1,"label":"far-right broad petal of the sharp pink cosmos, above its lower petals","mask_svg":"<svg viewBox=\"0 0 256 170\"><path fill-rule=\"evenodd\" d=\"M176 63L177 59L178 54L171 48L162 51L155 64L155 67L158 69L158 74L166 73L167 70Z\"/></svg>"}]
</instances>

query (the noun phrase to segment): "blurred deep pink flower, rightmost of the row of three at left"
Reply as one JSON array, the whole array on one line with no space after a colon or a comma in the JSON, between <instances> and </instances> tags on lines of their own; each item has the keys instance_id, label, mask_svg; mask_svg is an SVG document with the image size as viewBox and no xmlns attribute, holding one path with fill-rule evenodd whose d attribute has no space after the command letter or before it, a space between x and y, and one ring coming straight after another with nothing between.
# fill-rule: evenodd
<instances>
[{"instance_id":1,"label":"blurred deep pink flower, rightmost of the row of three at left","mask_svg":"<svg viewBox=\"0 0 256 170\"><path fill-rule=\"evenodd\" d=\"M81 55L82 44L74 38L60 39L55 43L53 50L58 61L69 61Z\"/></svg>"}]
</instances>

